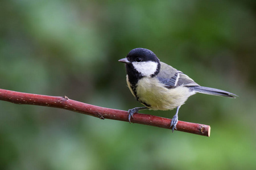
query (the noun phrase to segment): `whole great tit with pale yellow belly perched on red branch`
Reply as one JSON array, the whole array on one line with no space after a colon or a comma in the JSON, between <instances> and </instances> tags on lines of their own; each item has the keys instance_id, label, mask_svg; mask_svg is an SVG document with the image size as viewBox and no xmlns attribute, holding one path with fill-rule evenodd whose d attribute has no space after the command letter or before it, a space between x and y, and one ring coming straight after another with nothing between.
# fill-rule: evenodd
<instances>
[{"instance_id":1,"label":"whole great tit with pale yellow belly perched on red branch","mask_svg":"<svg viewBox=\"0 0 256 170\"><path fill-rule=\"evenodd\" d=\"M118 61L125 63L126 82L131 94L145 106L129 109L129 122L134 113L144 109L167 111L177 108L170 126L173 132L178 122L179 108L189 96L197 92L230 98L237 96L224 90L199 86L181 71L160 62L158 57L148 49L135 48L127 54L126 58Z\"/></svg>"}]
</instances>

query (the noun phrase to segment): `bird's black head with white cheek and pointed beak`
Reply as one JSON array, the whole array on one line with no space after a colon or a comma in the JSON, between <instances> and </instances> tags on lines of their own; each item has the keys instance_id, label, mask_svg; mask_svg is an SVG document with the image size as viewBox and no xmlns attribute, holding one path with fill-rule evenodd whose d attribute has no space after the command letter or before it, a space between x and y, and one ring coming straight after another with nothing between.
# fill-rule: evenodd
<instances>
[{"instance_id":1,"label":"bird's black head with white cheek and pointed beak","mask_svg":"<svg viewBox=\"0 0 256 170\"><path fill-rule=\"evenodd\" d=\"M160 61L151 50L135 48L131 50L126 58L119 59L126 63L126 72L130 82L137 83L143 76L152 77L159 73Z\"/></svg>"}]
</instances>

